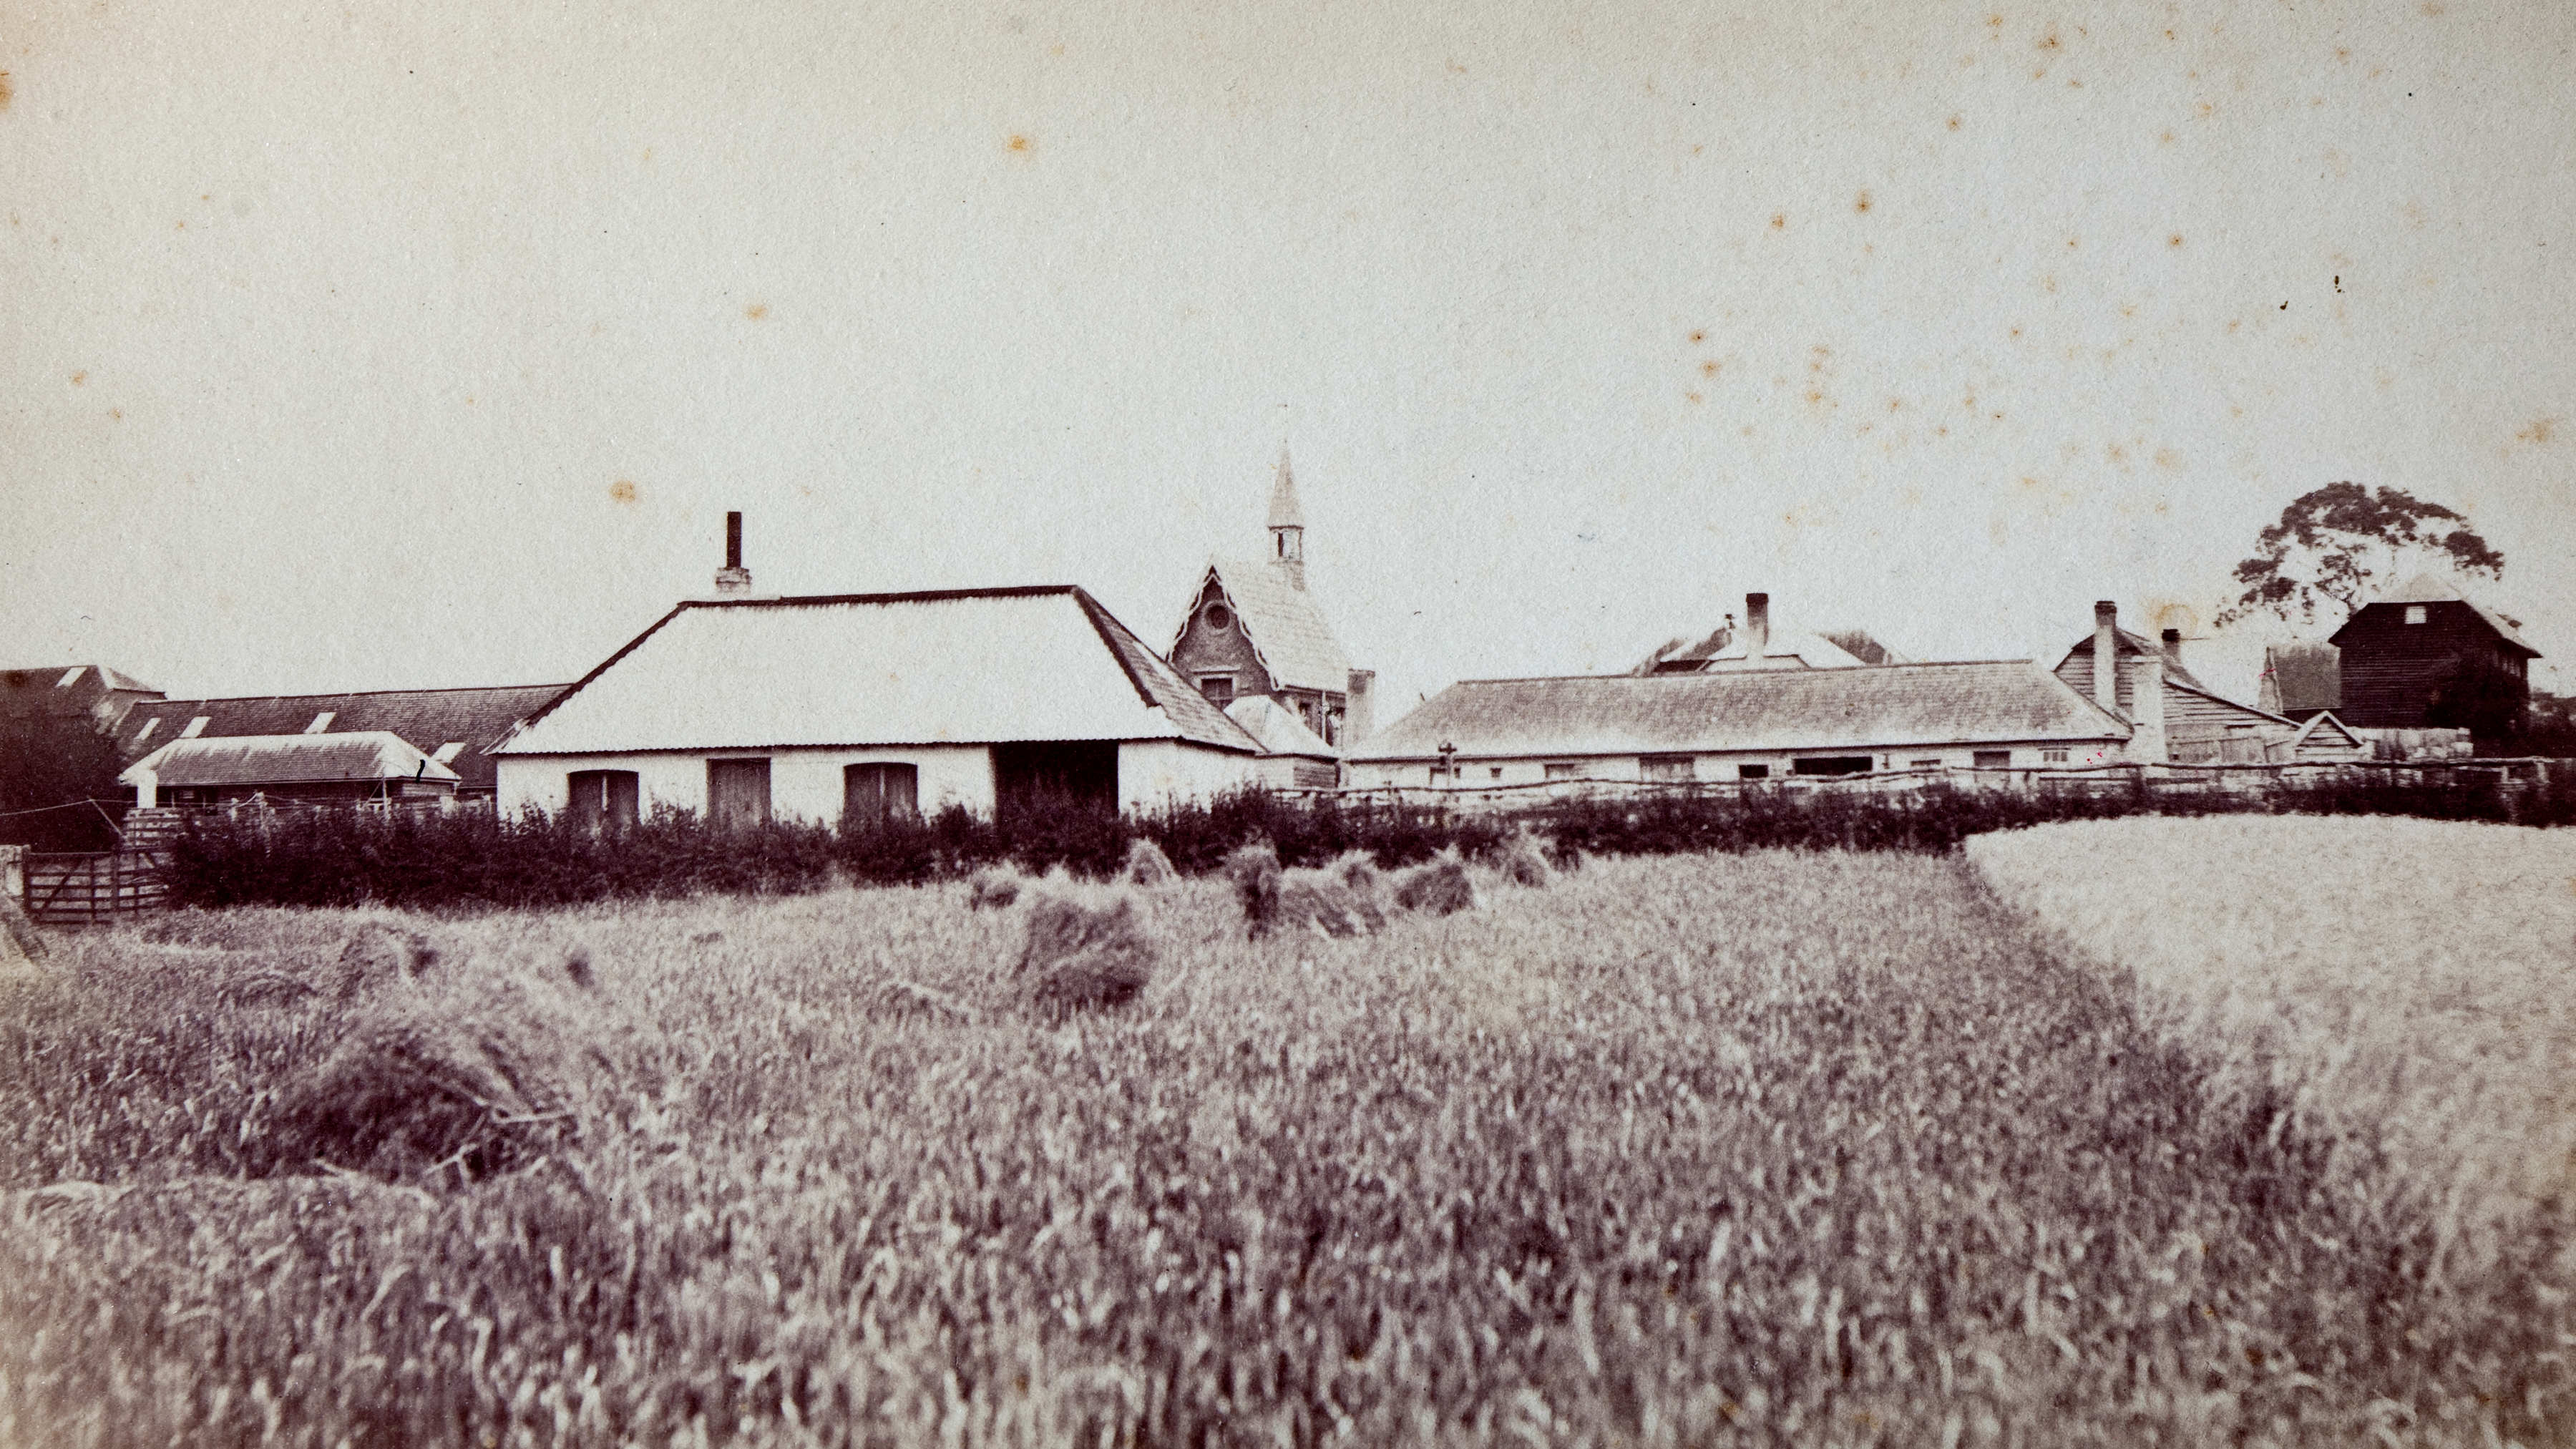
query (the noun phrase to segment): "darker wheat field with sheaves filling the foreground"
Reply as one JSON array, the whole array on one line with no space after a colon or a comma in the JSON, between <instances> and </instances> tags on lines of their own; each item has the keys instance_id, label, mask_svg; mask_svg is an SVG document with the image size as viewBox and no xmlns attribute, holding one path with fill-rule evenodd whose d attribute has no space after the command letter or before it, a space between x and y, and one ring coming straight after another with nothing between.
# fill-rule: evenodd
<instances>
[{"instance_id":1,"label":"darker wheat field with sheaves filling the foreground","mask_svg":"<svg viewBox=\"0 0 2576 1449\"><path fill-rule=\"evenodd\" d=\"M353 913L70 941L0 982L0 1444L2576 1423L2553 1243L2445 1256L2372 1122L2236 1091L1960 859L1479 892L1249 941L1162 887L1097 1013L1033 1011L1025 908L963 884L392 920L443 967L350 998L291 982ZM371 990L428 1039L554 1013L487 1052L562 1070L544 1137L317 1160L289 1085L394 1039Z\"/></svg>"}]
</instances>

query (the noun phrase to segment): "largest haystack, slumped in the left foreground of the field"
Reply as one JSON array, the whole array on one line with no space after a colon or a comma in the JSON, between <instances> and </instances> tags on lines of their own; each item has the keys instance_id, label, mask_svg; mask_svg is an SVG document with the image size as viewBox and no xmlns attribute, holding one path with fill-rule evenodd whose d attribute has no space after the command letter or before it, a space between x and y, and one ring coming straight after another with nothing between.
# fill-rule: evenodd
<instances>
[{"instance_id":1,"label":"largest haystack, slumped in the left foreground of the field","mask_svg":"<svg viewBox=\"0 0 2576 1449\"><path fill-rule=\"evenodd\" d=\"M417 975L358 998L327 1057L278 1091L276 1171L477 1181L580 1134L641 1078L641 1034L600 1000L587 951L559 972Z\"/></svg>"}]
</instances>

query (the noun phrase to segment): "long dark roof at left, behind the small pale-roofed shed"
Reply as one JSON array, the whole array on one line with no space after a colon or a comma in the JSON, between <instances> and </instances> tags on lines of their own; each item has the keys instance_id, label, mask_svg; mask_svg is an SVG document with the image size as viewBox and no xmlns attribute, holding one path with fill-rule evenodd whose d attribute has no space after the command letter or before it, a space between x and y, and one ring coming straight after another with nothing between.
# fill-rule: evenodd
<instances>
[{"instance_id":1,"label":"long dark roof at left, behind the small pale-roofed shed","mask_svg":"<svg viewBox=\"0 0 2576 1449\"><path fill-rule=\"evenodd\" d=\"M363 694L250 694L237 699L147 699L116 727L116 748L134 761L175 740L191 719L204 717L204 740L250 735L304 735L330 714L322 735L384 730L415 750L435 755L464 745L448 766L464 789L492 789L500 768L487 753L510 727L536 714L562 694L559 683L515 683L500 688L379 688Z\"/></svg>"}]
</instances>

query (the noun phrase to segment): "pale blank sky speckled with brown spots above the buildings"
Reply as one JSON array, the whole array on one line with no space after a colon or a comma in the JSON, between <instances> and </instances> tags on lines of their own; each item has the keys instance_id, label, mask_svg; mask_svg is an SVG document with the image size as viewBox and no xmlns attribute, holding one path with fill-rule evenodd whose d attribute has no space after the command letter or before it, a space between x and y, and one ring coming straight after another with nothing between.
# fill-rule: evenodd
<instances>
[{"instance_id":1,"label":"pale blank sky speckled with brown spots above the buildings","mask_svg":"<svg viewBox=\"0 0 2576 1449\"><path fill-rule=\"evenodd\" d=\"M2102 10L2117 10L2105 18ZM1381 719L1767 590L2197 627L2324 482L2576 670L2576 5L0 8L0 663L574 678L1262 549Z\"/></svg>"}]
</instances>

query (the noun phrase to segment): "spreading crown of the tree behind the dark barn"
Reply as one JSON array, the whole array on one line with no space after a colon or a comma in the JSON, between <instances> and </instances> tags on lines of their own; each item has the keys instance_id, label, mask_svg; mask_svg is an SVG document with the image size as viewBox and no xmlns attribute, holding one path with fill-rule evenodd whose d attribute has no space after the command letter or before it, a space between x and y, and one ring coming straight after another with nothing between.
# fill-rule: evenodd
<instances>
[{"instance_id":1,"label":"spreading crown of the tree behind the dark barn","mask_svg":"<svg viewBox=\"0 0 2576 1449\"><path fill-rule=\"evenodd\" d=\"M2427 562L2452 572L2504 578L2504 554L2468 518L2396 487L2329 482L2293 498L2254 539L2254 557L2236 565L2246 585L2218 611L2221 624L2254 614L2316 619L2326 603L2349 619L2370 596Z\"/></svg>"}]
</instances>

